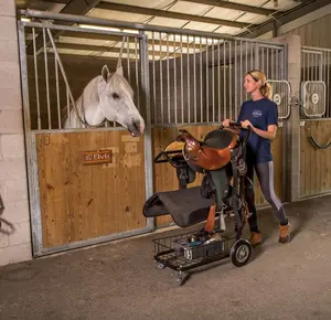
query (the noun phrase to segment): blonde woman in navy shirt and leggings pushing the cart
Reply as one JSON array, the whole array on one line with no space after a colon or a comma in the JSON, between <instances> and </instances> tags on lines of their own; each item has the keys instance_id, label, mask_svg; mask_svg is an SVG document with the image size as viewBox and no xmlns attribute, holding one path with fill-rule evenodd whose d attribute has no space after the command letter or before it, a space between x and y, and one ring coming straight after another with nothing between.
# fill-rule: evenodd
<instances>
[{"instance_id":1,"label":"blonde woman in navy shirt and leggings pushing the cart","mask_svg":"<svg viewBox=\"0 0 331 320\"><path fill-rule=\"evenodd\" d=\"M269 99L271 87L266 82L263 72L254 70L245 75L244 87L252 99L242 105L237 122L242 124L242 130L238 134L245 137L248 126L252 134L247 143L246 161L247 177L253 181L254 169L259 180L259 184L265 199L271 204L279 221L279 243L290 241L291 226L285 214L280 200L274 191L274 162L270 150L270 140L275 139L278 126L277 105ZM223 121L224 127L229 126L231 120ZM261 243L261 233L257 225L257 214L254 201L254 190L247 188L247 205L252 215L248 217L250 228L250 244Z\"/></svg>"}]
</instances>

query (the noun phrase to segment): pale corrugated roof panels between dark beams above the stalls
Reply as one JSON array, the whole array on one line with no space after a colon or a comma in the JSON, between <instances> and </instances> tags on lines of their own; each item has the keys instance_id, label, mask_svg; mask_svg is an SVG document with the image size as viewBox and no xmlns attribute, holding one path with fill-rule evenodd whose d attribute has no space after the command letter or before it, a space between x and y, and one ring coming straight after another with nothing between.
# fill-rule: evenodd
<instances>
[{"instance_id":1,"label":"pale corrugated roof panels between dark beams above the stalls","mask_svg":"<svg viewBox=\"0 0 331 320\"><path fill-rule=\"evenodd\" d=\"M177 29L190 29L200 30L214 33L224 33L231 35L241 34L247 26L255 24L258 25L273 19L273 14L277 11L287 11L296 6L298 1L292 0L278 0L278 6L275 7L274 0L231 0L231 1L172 1L172 0L103 0L88 12L79 12L82 10L77 0L26 0L19 1L20 8L29 8L42 11L51 12L64 12L71 14L85 14L93 18L103 18L116 21L127 21L134 23L147 23L159 26L177 28ZM24 4L22 4L24 2ZM74 9L67 12L66 4L68 2L76 2L71 4ZM200 3L197 3L200 2ZM204 2L204 3L201 3ZM235 8L223 8L216 6L218 2L227 2L235 4ZM215 4L215 6L213 6ZM220 3L218 3L220 4ZM226 3L225 3L226 4ZM239 4L241 7L236 7ZM242 7L242 4L250 6ZM125 7L130 6L130 7ZM132 8L136 7L136 8ZM220 4L221 6L221 4ZM226 7L226 6L225 6ZM255 11L255 8L270 9L273 14L261 14L261 12L247 12ZM142 10L142 11L141 11ZM152 10L152 11L150 11ZM137 12L138 11L138 12ZM164 15L163 12L168 12ZM188 17L190 14L190 17ZM161 17L160 17L161 15ZM191 18L191 19L188 19ZM203 21L199 18L204 18ZM210 20L209 20L210 19ZM197 21L196 21L197 20ZM228 23L227 23L228 22ZM242 24L241 24L242 23ZM244 23L244 24L243 24ZM234 25L233 25L234 24ZM111 29L110 29L111 30ZM116 29L115 29L116 30ZM148 32L151 39L151 32ZM156 35L154 35L156 36ZM161 38L160 38L161 36ZM169 45L172 45L170 50L178 51L177 44L173 45L173 41L180 41L178 36L159 34L156 36L154 45L159 45L160 41L168 41L168 49L166 43L162 43L161 51L169 51ZM185 43L192 43L194 40L183 36L182 39L184 47L188 50ZM57 36L57 43L61 43L58 51L64 54L78 54L78 55L92 55L92 56L116 56L118 55L118 49L120 47L120 41L118 40L105 40L105 39L90 39L88 41L82 36L77 38L75 34L63 34ZM205 42L205 41L203 41ZM199 40L195 41L199 43ZM98 49L99 46L99 49ZM129 44L129 49L135 50L135 43Z\"/></svg>"}]
</instances>

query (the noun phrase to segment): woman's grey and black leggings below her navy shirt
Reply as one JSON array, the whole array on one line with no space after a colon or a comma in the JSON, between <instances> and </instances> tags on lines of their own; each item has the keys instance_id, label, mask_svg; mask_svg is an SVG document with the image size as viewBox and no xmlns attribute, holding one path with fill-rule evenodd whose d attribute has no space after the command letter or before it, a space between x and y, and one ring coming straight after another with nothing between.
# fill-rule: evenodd
<instances>
[{"instance_id":1,"label":"woman's grey and black leggings below her navy shirt","mask_svg":"<svg viewBox=\"0 0 331 320\"><path fill-rule=\"evenodd\" d=\"M247 163L247 167L248 167L247 177L253 182L254 169L255 169L265 199L270 203L270 205L275 210L279 223L281 225L286 225L287 217L284 211L284 206L280 200L276 196L274 190L274 162L270 161L270 162L256 163L256 164ZM246 190L246 199L247 199L248 210L252 213L252 215L248 218L249 228L252 232L259 232L257 226L254 189L248 188Z\"/></svg>"}]
</instances>

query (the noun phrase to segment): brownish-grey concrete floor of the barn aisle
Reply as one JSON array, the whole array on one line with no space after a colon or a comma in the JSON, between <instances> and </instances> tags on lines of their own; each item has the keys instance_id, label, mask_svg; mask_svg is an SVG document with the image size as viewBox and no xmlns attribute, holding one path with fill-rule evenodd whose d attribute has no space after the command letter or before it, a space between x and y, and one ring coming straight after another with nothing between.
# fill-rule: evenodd
<instances>
[{"instance_id":1,"label":"brownish-grey concrete floor of the barn aisle","mask_svg":"<svg viewBox=\"0 0 331 320\"><path fill-rule=\"evenodd\" d=\"M177 273L154 267L151 239L160 233L2 267L0 319L329 320L331 196L286 211L290 244L277 243L271 210L259 211L265 242L248 265L216 262L183 286Z\"/></svg>"}]
</instances>

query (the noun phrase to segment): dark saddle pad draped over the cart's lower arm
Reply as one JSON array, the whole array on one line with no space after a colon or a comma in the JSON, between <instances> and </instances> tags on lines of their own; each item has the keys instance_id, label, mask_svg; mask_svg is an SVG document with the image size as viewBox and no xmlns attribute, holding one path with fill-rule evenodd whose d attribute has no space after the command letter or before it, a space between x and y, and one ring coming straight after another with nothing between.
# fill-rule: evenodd
<instances>
[{"instance_id":1,"label":"dark saddle pad draped over the cart's lower arm","mask_svg":"<svg viewBox=\"0 0 331 320\"><path fill-rule=\"evenodd\" d=\"M211 199L202 198L200 186L158 192L145 203L143 215L170 214L178 226L186 227L205 221L212 204Z\"/></svg>"}]
</instances>

